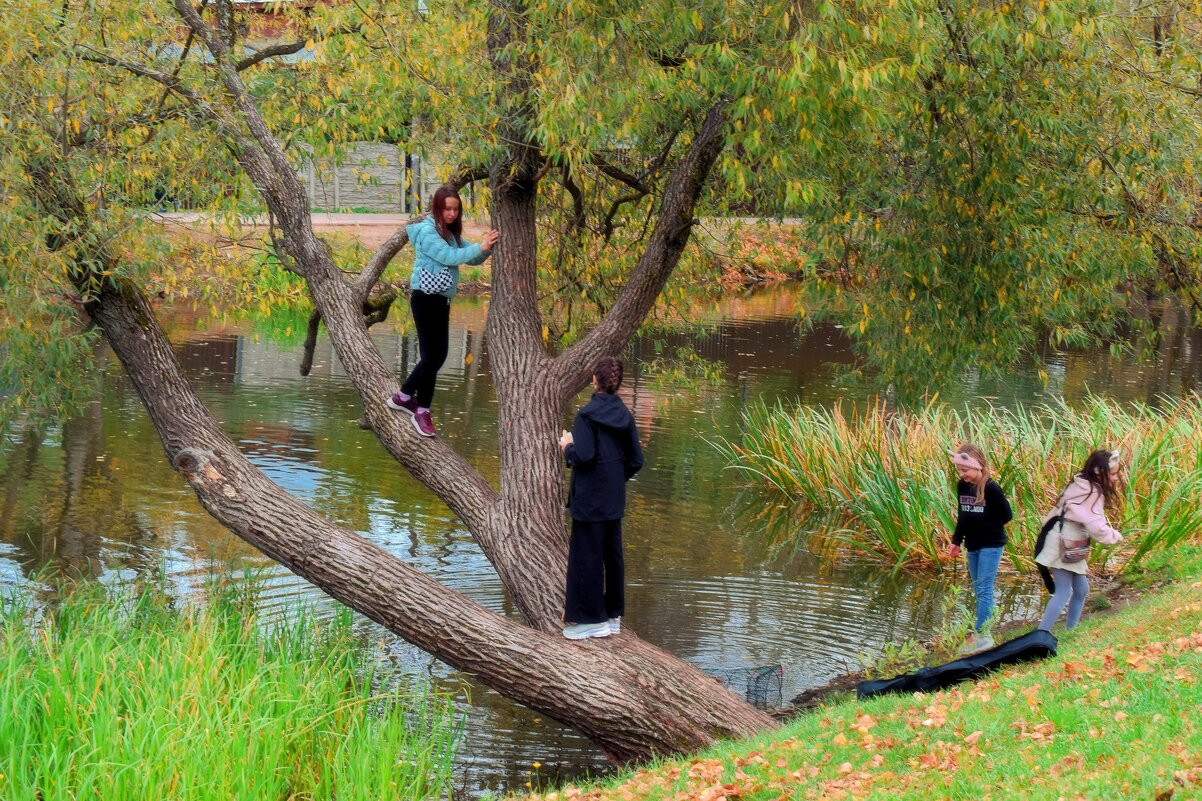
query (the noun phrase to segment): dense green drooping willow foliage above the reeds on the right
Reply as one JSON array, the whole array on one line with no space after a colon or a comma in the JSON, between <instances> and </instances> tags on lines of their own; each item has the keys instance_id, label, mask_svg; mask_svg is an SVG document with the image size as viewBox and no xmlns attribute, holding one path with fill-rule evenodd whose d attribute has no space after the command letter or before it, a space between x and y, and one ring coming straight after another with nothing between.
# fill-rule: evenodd
<instances>
[{"instance_id":1,"label":"dense green drooping willow foliage above the reeds on the right","mask_svg":"<svg viewBox=\"0 0 1202 801\"><path fill-rule=\"evenodd\" d=\"M1045 336L1117 344L1147 297L1202 312L1202 8L898 6L814 30L859 59L828 67L832 91L845 70L870 89L845 113L798 100L814 184L764 176L879 379L914 397Z\"/></svg>"}]
</instances>

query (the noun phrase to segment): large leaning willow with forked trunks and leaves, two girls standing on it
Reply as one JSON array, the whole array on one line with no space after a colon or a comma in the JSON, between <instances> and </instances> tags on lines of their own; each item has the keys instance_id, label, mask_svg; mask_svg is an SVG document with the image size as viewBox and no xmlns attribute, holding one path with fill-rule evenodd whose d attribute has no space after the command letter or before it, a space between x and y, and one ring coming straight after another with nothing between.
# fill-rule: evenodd
<instances>
[{"instance_id":1,"label":"large leaning willow with forked trunks and leaves, two girls standing on it","mask_svg":"<svg viewBox=\"0 0 1202 801\"><path fill-rule=\"evenodd\" d=\"M17 360L6 358L5 384L18 391L5 409L61 398L52 390L99 332L132 379L166 457L204 508L407 641L577 728L617 758L770 726L770 718L632 633L583 643L559 636L566 529L555 433L564 407L597 357L620 351L645 319L706 206L807 210L825 224L823 236L855 225L846 242L863 242L879 222L899 247L942 253L958 220L994 214L1004 200L968 195L969 213L957 204L954 182L936 182L939 191L923 195L928 210L915 206L915 188L926 186L933 170L964 174L957 131L974 123L986 141L1005 138L1005 114L986 102L993 89L981 90L978 106L962 108L956 81L995 87L1024 75L1002 67L1029 35L1076 53L1088 38L1067 28L1073 14L1094 18L1107 8L1008 4L974 17L975 24L1006 23L1008 34L965 40L956 8L940 2L376 0L282 14L279 41L263 43L246 38L255 22L230 0L54 8L14 0L0 23L2 346L14 357L50 342L42 351L54 358L25 360L22 369L10 369ZM1036 40L1039 58L1057 61L1052 44ZM986 66L994 63L996 75ZM1041 106L1046 114L1049 103ZM926 129L911 125L914 114L929 117ZM927 138L905 140L911 129L914 136L928 131ZM315 148L337 152L371 137L440 152L453 179L487 185L492 224L501 231L487 327L500 404L499 485L453 443L419 438L385 405L397 376L368 337L376 312L365 315L364 305L405 245L404 231L352 274L314 235L296 165ZM920 147L927 153L911 152ZM463 521L522 622L488 612L272 483L180 374L142 290L162 256L139 216L144 191L137 188L197 174L198 156L216 149L269 210L274 247L304 278L381 446ZM974 167L982 168L992 180L988 167ZM933 227L939 237L926 236L926 213L942 215ZM1090 225L1106 221L1095 214ZM1014 227L1037 225L1024 213ZM965 225L962 238L989 243L1000 230ZM882 308L917 303L928 291L952 297L933 278L947 269L976 281L994 263L982 256L988 253L965 247L956 259L926 262L922 274L900 271L915 281L912 301L894 291L902 278L877 269L871 277L885 287ZM597 269L602 261L606 269ZM540 283L548 263L557 267L551 286ZM1057 263L1059 273L1039 263L1033 271L1055 281L1067 269ZM993 284L982 285L988 296ZM1030 285L1052 293L1046 284ZM540 305L555 293L601 307L595 325L572 331L571 344L549 337L567 328ZM941 308L939 297L932 307ZM81 333L77 321L95 327Z\"/></svg>"}]
</instances>

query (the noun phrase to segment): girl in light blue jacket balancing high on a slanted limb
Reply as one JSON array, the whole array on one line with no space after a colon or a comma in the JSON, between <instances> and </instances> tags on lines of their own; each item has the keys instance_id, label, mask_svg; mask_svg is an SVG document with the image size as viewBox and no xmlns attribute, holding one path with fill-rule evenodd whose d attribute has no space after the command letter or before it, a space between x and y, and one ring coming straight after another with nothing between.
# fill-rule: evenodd
<instances>
[{"instance_id":1,"label":"girl in light blue jacket balancing high on a slanted limb","mask_svg":"<svg viewBox=\"0 0 1202 801\"><path fill-rule=\"evenodd\" d=\"M430 214L409 226L413 244L413 275L409 279L412 293L409 308L417 327L419 360L413 372L400 385L400 392L388 398L388 405L413 417L413 427L422 437L434 437L430 402L434 381L447 358L451 340L451 298L459 287L459 265L481 265L493 253L498 232L490 230L478 245L464 245L459 192L451 186L439 186L430 202Z\"/></svg>"}]
</instances>

